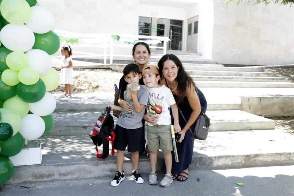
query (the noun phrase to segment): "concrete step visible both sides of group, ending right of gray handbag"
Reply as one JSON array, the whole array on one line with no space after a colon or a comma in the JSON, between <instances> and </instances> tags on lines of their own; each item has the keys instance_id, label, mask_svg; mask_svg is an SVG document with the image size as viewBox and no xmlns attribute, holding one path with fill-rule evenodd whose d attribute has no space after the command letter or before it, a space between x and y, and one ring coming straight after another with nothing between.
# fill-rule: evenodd
<instances>
[{"instance_id":1,"label":"concrete step visible both sides of group, ending right of gray handbag","mask_svg":"<svg viewBox=\"0 0 294 196\"><path fill-rule=\"evenodd\" d=\"M211 119L210 131L274 129L275 121L239 110L206 111ZM48 136L87 135L93 128L100 112L52 113L54 127ZM114 117L116 124L117 118Z\"/></svg>"}]
</instances>

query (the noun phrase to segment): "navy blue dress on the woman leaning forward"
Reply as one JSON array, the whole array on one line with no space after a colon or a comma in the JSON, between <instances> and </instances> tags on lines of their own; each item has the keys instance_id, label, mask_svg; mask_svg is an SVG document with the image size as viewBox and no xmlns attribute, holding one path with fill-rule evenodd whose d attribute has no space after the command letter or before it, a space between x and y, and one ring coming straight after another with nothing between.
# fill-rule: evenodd
<instances>
[{"instance_id":1,"label":"navy blue dress on the woman leaning forward","mask_svg":"<svg viewBox=\"0 0 294 196\"><path fill-rule=\"evenodd\" d=\"M207 102L206 102L205 96L199 89L197 89L197 91L198 91L202 111L203 113L205 113L207 108ZM174 98L176 100L177 96L174 95ZM185 119L188 121L192 113L192 108L190 107L189 101L186 96L184 97L183 101L178 104L178 106L183 112ZM186 122L180 113L179 113L179 125L181 128L183 128L186 125ZM190 126L190 129L194 130L194 126L195 124L192 124L192 126ZM194 140L195 139L193 138L190 130L188 130L185 134L185 138L183 139L183 141L181 143L179 142L176 143L179 162L178 163L175 162L175 153L172 151L171 152L171 156L172 156L171 173L172 174L180 174L183 170L189 168L189 165L192 162ZM163 163L161 170L164 172L166 171L165 163Z\"/></svg>"}]
</instances>

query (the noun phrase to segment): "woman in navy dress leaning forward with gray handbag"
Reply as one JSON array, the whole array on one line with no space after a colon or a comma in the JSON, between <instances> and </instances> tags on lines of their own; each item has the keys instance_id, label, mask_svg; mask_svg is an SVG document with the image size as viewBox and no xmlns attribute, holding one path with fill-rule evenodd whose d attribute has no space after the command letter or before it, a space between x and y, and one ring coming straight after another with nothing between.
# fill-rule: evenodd
<instances>
[{"instance_id":1,"label":"woman in navy dress leaning forward with gray handbag","mask_svg":"<svg viewBox=\"0 0 294 196\"><path fill-rule=\"evenodd\" d=\"M176 100L179 109L182 111L187 123L179 114L179 125L181 131L177 137L177 151L179 162L175 162L174 153L171 173L173 178L178 181L185 181L188 179L189 165L192 162L194 138L189 131L194 129L195 121L200 114L201 107L205 113L207 102L203 93L197 89L193 79L184 70L183 65L178 57L175 55L164 55L158 62L159 73L162 76L160 84L166 85L171 89L171 92ZM199 94L199 98L197 92ZM149 123L156 123L156 118L147 118L145 120ZM166 170L163 164L163 171Z\"/></svg>"}]
</instances>

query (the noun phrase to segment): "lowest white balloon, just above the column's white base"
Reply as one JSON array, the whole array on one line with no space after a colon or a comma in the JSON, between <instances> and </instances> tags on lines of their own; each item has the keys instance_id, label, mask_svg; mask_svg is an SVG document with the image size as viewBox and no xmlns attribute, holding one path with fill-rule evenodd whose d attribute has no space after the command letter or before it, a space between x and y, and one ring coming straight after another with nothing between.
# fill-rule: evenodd
<instances>
[{"instance_id":1,"label":"lowest white balloon, just above the column's white base","mask_svg":"<svg viewBox=\"0 0 294 196\"><path fill-rule=\"evenodd\" d=\"M40 138L45 131L44 120L35 114L28 114L21 119L21 130L19 133L23 138L34 140Z\"/></svg>"}]
</instances>

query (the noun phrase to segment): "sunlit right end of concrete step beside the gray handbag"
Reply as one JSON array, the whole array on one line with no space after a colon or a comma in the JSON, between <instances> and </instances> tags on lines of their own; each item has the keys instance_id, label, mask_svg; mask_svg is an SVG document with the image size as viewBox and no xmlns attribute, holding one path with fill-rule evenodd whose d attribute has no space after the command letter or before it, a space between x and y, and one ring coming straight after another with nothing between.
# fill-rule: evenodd
<instances>
[{"instance_id":1,"label":"sunlit right end of concrete step beside the gray handbag","mask_svg":"<svg viewBox=\"0 0 294 196\"><path fill-rule=\"evenodd\" d=\"M275 121L240 110L206 111L211 120L209 131L275 129Z\"/></svg>"}]
</instances>

